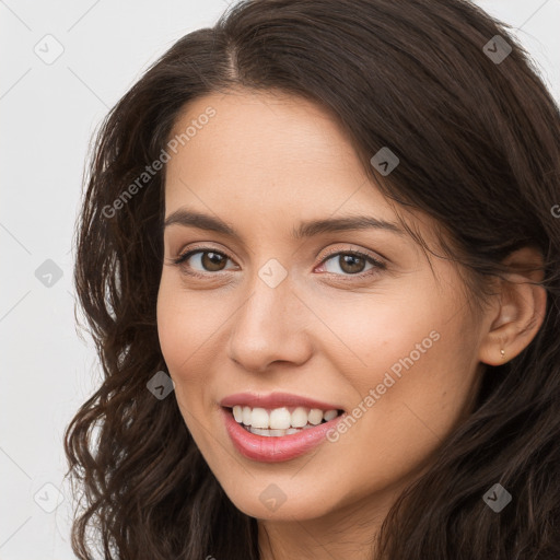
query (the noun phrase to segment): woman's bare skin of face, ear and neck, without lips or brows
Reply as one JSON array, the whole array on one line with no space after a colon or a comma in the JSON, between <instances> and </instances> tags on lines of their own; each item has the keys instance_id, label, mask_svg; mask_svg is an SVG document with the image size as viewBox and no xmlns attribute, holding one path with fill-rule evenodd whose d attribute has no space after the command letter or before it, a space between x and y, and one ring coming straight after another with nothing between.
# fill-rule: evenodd
<instances>
[{"instance_id":1,"label":"woman's bare skin of face, ear and neck, without lips or brows","mask_svg":"<svg viewBox=\"0 0 560 560\"><path fill-rule=\"evenodd\" d=\"M432 271L407 234L371 229L292 238L305 220L398 220L318 106L271 92L213 94L190 103L173 135L208 106L215 116L167 163L165 217L179 208L208 213L238 237L182 224L164 230L158 325L175 397L226 494L259 520L265 560L272 552L373 558L368 542L468 415L483 364L513 358L536 334L544 291L520 281L476 313L456 267L432 257ZM431 219L407 220L435 246ZM208 253L173 264L200 246L225 257L213 267ZM385 268L359 261L352 275L327 250L359 250ZM258 276L271 258L288 272L276 288ZM512 261L535 258L522 250ZM223 397L287 392L351 412L433 331L439 339L336 443L282 463L252 460L234 448L218 405ZM259 500L269 485L285 495L276 511Z\"/></svg>"}]
</instances>

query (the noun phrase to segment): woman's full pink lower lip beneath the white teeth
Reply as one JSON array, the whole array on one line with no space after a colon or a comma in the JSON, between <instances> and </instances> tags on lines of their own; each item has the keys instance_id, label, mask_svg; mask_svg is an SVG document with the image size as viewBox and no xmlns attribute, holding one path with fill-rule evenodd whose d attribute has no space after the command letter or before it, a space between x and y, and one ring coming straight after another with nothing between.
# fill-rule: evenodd
<instances>
[{"instance_id":1,"label":"woman's full pink lower lip beneath the white teeth","mask_svg":"<svg viewBox=\"0 0 560 560\"><path fill-rule=\"evenodd\" d=\"M319 445L326 439L327 432L345 416L340 415L328 422L290 435L267 436L242 428L233 418L231 409L222 407L222 415L235 448L245 457L262 463L279 463L304 455Z\"/></svg>"}]
</instances>

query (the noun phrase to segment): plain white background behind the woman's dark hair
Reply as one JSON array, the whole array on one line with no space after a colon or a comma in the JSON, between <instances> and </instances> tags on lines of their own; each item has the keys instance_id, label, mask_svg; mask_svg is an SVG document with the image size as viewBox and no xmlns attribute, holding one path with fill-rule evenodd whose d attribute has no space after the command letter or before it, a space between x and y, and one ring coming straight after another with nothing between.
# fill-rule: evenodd
<instances>
[{"instance_id":1,"label":"plain white background behind the woman's dark hair","mask_svg":"<svg viewBox=\"0 0 560 560\"><path fill-rule=\"evenodd\" d=\"M477 3L517 28L560 100L560 0ZM91 341L77 335L72 285L92 133L152 61L186 33L211 26L226 5L0 0L0 560L74 558L62 432L100 381ZM63 47L51 65L34 52L47 34ZM35 276L47 259L62 272L50 288ZM54 487L65 498L47 513L38 503L56 505Z\"/></svg>"}]
</instances>

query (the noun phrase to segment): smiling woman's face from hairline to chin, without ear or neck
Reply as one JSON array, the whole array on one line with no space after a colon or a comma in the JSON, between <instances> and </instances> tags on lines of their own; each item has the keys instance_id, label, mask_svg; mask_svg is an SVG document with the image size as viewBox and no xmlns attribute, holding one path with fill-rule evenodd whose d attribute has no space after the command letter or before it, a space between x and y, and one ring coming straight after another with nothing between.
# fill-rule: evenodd
<instances>
[{"instance_id":1,"label":"smiling woman's face from hairline to chin, without ear or neck","mask_svg":"<svg viewBox=\"0 0 560 560\"><path fill-rule=\"evenodd\" d=\"M248 515L375 515L468 412L483 317L314 104L209 95L180 133L158 325L189 431ZM430 220L410 224L433 241Z\"/></svg>"}]
</instances>

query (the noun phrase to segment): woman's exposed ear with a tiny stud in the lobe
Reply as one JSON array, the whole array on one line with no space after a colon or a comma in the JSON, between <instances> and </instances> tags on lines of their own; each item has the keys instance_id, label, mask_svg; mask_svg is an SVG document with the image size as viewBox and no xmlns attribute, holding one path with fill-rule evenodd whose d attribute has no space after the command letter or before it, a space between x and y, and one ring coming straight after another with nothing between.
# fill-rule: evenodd
<instances>
[{"instance_id":1,"label":"woman's exposed ear with a tiny stud in the lobe","mask_svg":"<svg viewBox=\"0 0 560 560\"><path fill-rule=\"evenodd\" d=\"M547 293L538 283L544 278L540 252L524 247L503 264L511 272L499 281L489 329L479 348L478 359L488 365L501 365L521 353L535 338L546 313Z\"/></svg>"}]
</instances>

